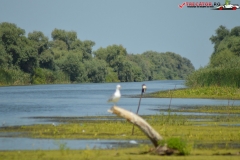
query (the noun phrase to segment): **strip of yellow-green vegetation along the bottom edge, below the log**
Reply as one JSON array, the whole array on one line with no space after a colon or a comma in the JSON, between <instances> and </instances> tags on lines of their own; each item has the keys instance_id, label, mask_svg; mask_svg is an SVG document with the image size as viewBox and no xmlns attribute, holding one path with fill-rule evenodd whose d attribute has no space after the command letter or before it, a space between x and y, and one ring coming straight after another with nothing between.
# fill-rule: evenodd
<instances>
[{"instance_id":1,"label":"strip of yellow-green vegetation along the bottom edge, below the log","mask_svg":"<svg viewBox=\"0 0 240 160\"><path fill-rule=\"evenodd\" d=\"M54 150L54 151L0 151L0 159L4 160L238 160L239 150L193 150L189 156L156 156L146 153L148 146L127 149L108 149L108 150Z\"/></svg>"}]
</instances>

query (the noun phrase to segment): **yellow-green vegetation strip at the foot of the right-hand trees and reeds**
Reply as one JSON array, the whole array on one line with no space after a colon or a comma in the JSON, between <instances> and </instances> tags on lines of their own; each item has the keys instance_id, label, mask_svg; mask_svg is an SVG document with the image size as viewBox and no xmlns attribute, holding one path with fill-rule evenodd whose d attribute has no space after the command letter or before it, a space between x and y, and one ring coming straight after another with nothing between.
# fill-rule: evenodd
<instances>
[{"instance_id":1,"label":"yellow-green vegetation strip at the foot of the right-hand trees and reeds","mask_svg":"<svg viewBox=\"0 0 240 160\"><path fill-rule=\"evenodd\" d=\"M213 98L213 99L240 99L240 89L236 87L195 87L159 91L145 95L154 98Z\"/></svg>"}]
</instances>

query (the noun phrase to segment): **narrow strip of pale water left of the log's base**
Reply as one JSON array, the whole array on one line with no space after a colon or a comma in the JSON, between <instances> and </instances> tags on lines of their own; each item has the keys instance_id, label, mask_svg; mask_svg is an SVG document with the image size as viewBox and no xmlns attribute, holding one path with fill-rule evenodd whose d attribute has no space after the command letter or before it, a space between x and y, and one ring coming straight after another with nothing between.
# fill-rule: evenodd
<instances>
[{"instance_id":1,"label":"narrow strip of pale water left of the log's base","mask_svg":"<svg viewBox=\"0 0 240 160\"><path fill-rule=\"evenodd\" d=\"M149 143L146 140L1 138L0 150L106 149Z\"/></svg>"}]
</instances>

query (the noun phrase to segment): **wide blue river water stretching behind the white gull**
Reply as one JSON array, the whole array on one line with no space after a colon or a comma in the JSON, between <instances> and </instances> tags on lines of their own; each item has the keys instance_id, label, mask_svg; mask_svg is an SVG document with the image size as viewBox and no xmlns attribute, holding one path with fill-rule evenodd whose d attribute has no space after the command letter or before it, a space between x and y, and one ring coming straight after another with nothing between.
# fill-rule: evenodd
<instances>
[{"instance_id":1,"label":"wide blue river water stretching behind the white gull","mask_svg":"<svg viewBox=\"0 0 240 160\"><path fill-rule=\"evenodd\" d=\"M0 87L0 127L52 123L34 117L112 116L107 112L112 106L112 104L107 103L107 100L115 91L117 84L122 87L122 97L117 105L133 112L137 110L139 98L130 98L130 96L139 95L142 84L147 86L147 93L185 88L182 80ZM168 108L169 102L169 98L143 98L139 114L158 114L160 113L158 109ZM171 108L227 104L228 100L173 98ZM240 101L234 101L234 105L240 105ZM181 114L188 113L181 112ZM12 149L12 147L3 147L4 144L9 144L8 140L6 138L0 139L0 150ZM23 142L27 139L15 138L11 140L18 143L20 140Z\"/></svg>"}]
</instances>

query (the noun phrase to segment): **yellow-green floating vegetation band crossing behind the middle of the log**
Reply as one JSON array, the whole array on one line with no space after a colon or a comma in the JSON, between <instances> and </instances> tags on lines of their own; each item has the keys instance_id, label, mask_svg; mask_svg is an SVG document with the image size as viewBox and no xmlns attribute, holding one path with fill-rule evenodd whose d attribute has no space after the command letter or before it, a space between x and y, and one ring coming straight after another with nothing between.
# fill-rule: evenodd
<instances>
[{"instance_id":1,"label":"yellow-green floating vegetation band crossing behind the middle of the log","mask_svg":"<svg viewBox=\"0 0 240 160\"><path fill-rule=\"evenodd\" d=\"M181 137L190 141L239 141L240 132L236 124L240 117L224 116L180 116L156 115L145 119L163 137ZM202 119L202 121L198 121ZM207 119L207 120L206 120ZM210 119L210 120L209 120ZM96 122L97 121L97 122ZM227 127L226 127L227 125ZM227 129L226 129L227 128ZM121 121L84 121L70 124L41 124L32 126L3 127L0 132L18 132L18 137L54 139L147 139L139 130L132 133L132 124ZM221 133L221 134L220 134ZM224 137L224 138L223 138Z\"/></svg>"}]
</instances>

